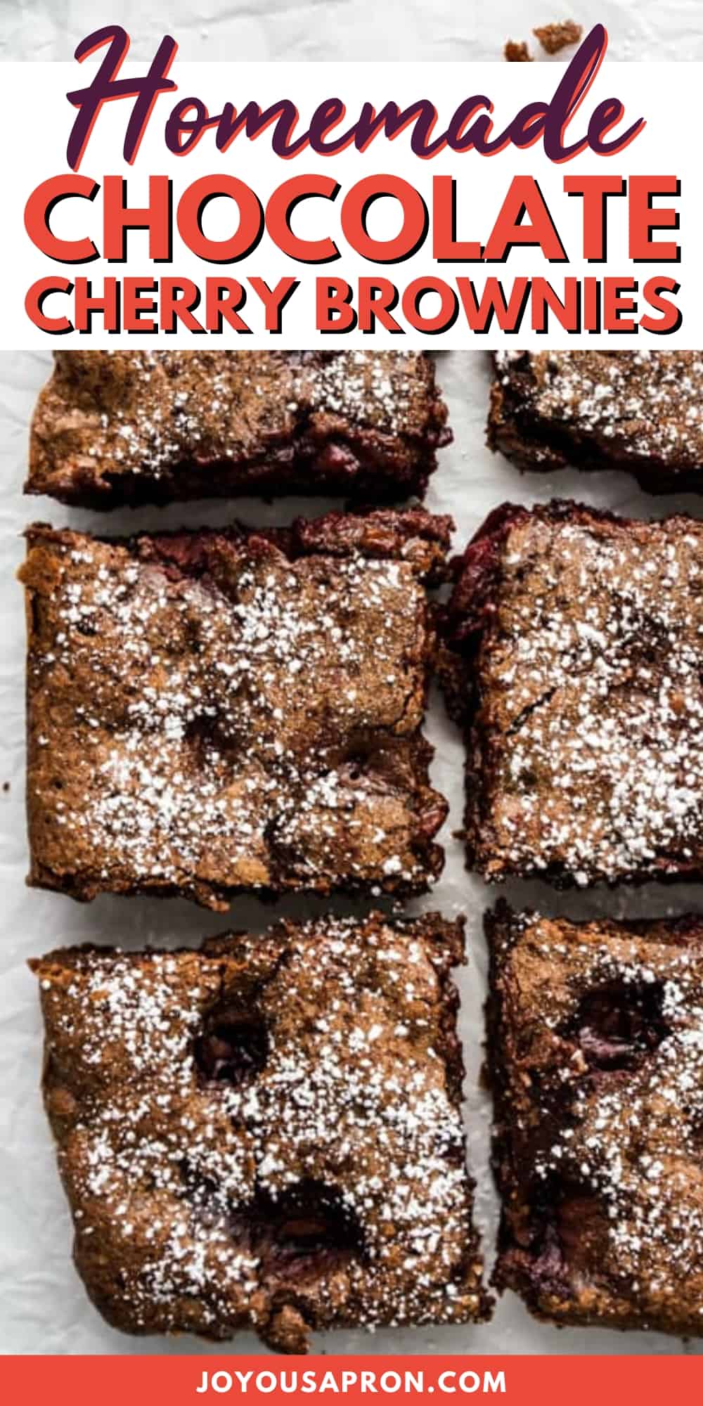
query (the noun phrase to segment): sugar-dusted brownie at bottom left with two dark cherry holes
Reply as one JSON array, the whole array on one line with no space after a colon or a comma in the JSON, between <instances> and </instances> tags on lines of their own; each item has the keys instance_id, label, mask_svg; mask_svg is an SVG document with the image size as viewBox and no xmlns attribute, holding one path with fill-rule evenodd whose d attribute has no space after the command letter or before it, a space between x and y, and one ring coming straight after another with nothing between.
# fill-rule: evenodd
<instances>
[{"instance_id":1,"label":"sugar-dusted brownie at bottom left with two dark cherry holes","mask_svg":"<svg viewBox=\"0 0 703 1406\"><path fill-rule=\"evenodd\" d=\"M450 967L463 922L323 918L32 962L86 1288L129 1333L486 1317Z\"/></svg>"}]
</instances>

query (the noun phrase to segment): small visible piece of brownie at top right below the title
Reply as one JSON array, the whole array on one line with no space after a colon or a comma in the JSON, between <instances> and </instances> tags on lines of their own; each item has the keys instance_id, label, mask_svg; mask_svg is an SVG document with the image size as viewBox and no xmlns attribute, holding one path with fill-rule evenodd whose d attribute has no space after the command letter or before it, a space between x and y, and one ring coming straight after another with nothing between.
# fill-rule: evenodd
<instances>
[{"instance_id":1,"label":"small visible piece of brownie at top right below the title","mask_svg":"<svg viewBox=\"0 0 703 1406\"><path fill-rule=\"evenodd\" d=\"M703 353L498 352L488 443L519 468L621 468L703 488Z\"/></svg>"}]
</instances>

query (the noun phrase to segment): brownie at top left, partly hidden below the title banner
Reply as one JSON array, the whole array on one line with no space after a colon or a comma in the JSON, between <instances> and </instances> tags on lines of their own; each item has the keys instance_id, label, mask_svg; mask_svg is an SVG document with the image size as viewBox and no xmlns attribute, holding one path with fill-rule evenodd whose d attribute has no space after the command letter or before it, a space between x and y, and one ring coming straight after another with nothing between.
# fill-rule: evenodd
<instances>
[{"instance_id":1,"label":"brownie at top left, partly hidden below the title banner","mask_svg":"<svg viewBox=\"0 0 703 1406\"><path fill-rule=\"evenodd\" d=\"M422 494L451 439L422 352L58 352L25 491L65 503Z\"/></svg>"}]
</instances>

